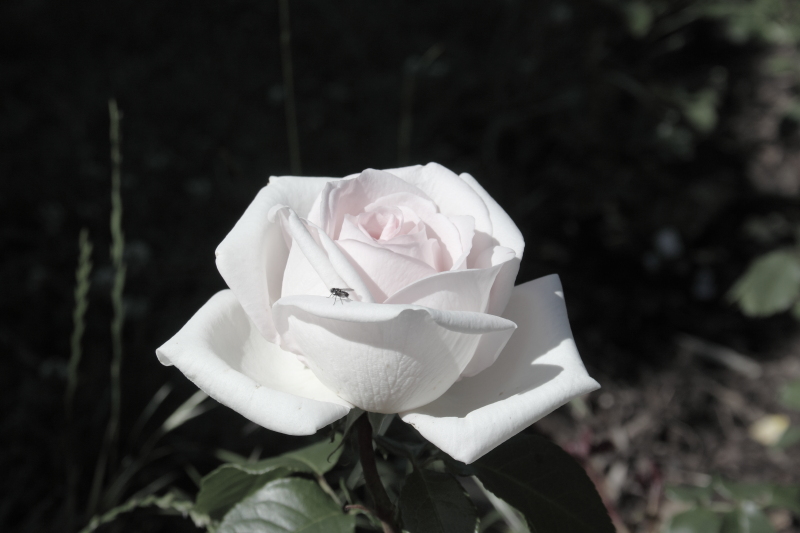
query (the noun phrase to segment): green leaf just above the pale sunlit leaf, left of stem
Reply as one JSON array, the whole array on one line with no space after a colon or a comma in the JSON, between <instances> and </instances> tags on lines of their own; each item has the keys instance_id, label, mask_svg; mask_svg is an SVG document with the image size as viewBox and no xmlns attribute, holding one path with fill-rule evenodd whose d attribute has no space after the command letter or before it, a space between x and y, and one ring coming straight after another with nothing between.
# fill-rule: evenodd
<instances>
[{"instance_id":1,"label":"green leaf just above the pale sunlit leaf, left of stem","mask_svg":"<svg viewBox=\"0 0 800 533\"><path fill-rule=\"evenodd\" d=\"M322 441L278 457L251 464L222 465L200 482L195 511L221 519L231 507L266 483L294 473L321 476L336 465L342 454L342 436Z\"/></svg>"}]
</instances>

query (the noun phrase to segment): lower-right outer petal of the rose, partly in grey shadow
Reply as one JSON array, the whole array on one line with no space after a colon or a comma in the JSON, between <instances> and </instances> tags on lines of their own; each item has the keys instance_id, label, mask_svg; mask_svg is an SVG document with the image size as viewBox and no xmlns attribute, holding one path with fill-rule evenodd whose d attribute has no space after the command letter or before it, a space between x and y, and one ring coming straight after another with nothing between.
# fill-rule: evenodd
<instances>
[{"instance_id":1,"label":"lower-right outer petal of the rose, partly in grey shadow","mask_svg":"<svg viewBox=\"0 0 800 533\"><path fill-rule=\"evenodd\" d=\"M494 365L436 401L401 413L423 437L465 463L600 387L575 348L558 276L516 287L504 317L520 326Z\"/></svg>"}]
</instances>

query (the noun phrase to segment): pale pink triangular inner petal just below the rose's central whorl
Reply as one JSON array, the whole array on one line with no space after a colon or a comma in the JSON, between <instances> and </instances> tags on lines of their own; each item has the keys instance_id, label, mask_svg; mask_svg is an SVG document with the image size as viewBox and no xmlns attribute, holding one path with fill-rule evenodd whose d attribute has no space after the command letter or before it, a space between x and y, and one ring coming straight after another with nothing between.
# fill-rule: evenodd
<instances>
[{"instance_id":1,"label":"pale pink triangular inner petal just below the rose's central whorl","mask_svg":"<svg viewBox=\"0 0 800 533\"><path fill-rule=\"evenodd\" d=\"M376 302L421 278L436 274L430 265L387 248L379 248L355 240L337 244L369 288Z\"/></svg>"}]
</instances>

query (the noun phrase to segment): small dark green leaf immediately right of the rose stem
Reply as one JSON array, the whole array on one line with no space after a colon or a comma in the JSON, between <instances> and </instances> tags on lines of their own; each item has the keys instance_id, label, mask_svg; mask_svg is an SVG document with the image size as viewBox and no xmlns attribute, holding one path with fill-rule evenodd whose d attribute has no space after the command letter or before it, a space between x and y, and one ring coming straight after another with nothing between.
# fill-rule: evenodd
<instances>
[{"instance_id":1,"label":"small dark green leaf immediately right of the rose stem","mask_svg":"<svg viewBox=\"0 0 800 533\"><path fill-rule=\"evenodd\" d=\"M415 469L400 493L400 512L410 533L473 533L478 514L450 474Z\"/></svg>"}]
</instances>

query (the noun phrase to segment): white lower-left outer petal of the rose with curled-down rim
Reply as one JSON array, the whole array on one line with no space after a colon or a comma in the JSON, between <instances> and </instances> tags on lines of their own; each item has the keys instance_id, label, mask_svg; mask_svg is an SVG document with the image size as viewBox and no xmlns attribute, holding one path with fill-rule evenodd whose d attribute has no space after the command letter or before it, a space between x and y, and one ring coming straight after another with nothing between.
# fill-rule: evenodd
<instances>
[{"instance_id":1,"label":"white lower-left outer petal of the rose with curled-down rim","mask_svg":"<svg viewBox=\"0 0 800 533\"><path fill-rule=\"evenodd\" d=\"M351 407L294 354L265 340L232 291L215 294L156 354L212 398L273 431L311 435Z\"/></svg>"}]
</instances>

